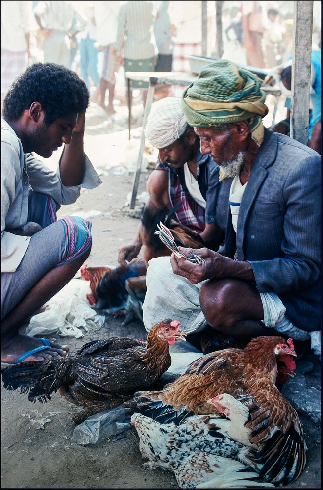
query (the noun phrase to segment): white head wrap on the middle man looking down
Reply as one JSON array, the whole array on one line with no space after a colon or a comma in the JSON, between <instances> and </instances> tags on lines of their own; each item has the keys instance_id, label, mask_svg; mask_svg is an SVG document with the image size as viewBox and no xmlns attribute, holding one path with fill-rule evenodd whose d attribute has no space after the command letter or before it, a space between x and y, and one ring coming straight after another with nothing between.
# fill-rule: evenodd
<instances>
[{"instance_id":1,"label":"white head wrap on the middle man looking down","mask_svg":"<svg viewBox=\"0 0 323 490\"><path fill-rule=\"evenodd\" d=\"M144 131L149 143L160 149L174 143L186 126L181 99L164 97L152 104Z\"/></svg>"}]
</instances>

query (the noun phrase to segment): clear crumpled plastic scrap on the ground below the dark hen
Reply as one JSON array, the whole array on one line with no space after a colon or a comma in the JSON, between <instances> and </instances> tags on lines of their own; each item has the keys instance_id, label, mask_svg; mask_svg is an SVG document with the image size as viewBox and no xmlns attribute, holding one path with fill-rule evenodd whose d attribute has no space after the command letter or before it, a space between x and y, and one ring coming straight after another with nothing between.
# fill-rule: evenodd
<instances>
[{"instance_id":1,"label":"clear crumpled plastic scrap on the ground below the dark hen","mask_svg":"<svg viewBox=\"0 0 323 490\"><path fill-rule=\"evenodd\" d=\"M130 416L129 410L124 405L107 412L96 413L75 427L71 442L85 446L96 444L111 436L118 436L130 428Z\"/></svg>"}]
</instances>

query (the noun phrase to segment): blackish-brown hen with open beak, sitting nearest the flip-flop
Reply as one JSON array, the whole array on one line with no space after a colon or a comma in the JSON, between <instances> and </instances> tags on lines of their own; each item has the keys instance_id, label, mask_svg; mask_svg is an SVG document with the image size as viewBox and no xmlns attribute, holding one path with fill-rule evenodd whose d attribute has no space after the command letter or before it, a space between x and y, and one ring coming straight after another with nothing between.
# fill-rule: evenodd
<instances>
[{"instance_id":1,"label":"blackish-brown hen with open beak, sitting nearest the flip-flop","mask_svg":"<svg viewBox=\"0 0 323 490\"><path fill-rule=\"evenodd\" d=\"M21 388L28 399L50 400L59 390L69 402L82 406L73 421L111 409L147 389L171 365L169 346L185 340L177 320L164 320L152 327L147 343L123 337L89 342L75 356L21 362L2 371L3 386Z\"/></svg>"}]
</instances>

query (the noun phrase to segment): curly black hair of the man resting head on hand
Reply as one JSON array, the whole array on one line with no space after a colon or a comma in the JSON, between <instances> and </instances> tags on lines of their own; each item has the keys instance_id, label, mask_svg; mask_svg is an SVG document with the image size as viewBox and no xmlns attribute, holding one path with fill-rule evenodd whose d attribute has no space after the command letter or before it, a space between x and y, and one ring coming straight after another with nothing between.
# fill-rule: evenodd
<instances>
[{"instance_id":1,"label":"curly black hair of the man resting head on hand","mask_svg":"<svg viewBox=\"0 0 323 490\"><path fill-rule=\"evenodd\" d=\"M75 72L55 63L35 63L9 88L3 101L3 117L16 121L33 102L42 104L44 122L50 125L71 112L84 112L89 91Z\"/></svg>"}]
</instances>

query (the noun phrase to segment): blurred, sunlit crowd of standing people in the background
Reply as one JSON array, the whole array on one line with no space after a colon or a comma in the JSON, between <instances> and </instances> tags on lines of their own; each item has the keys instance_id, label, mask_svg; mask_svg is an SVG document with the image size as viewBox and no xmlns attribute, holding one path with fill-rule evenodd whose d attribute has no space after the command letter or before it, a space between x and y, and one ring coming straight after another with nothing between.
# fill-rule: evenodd
<instances>
[{"instance_id":1,"label":"blurred, sunlit crowd of standing people in the background","mask_svg":"<svg viewBox=\"0 0 323 490\"><path fill-rule=\"evenodd\" d=\"M223 53L216 46L215 3L207 2L206 55L259 68L291 58L293 1L221 2ZM320 17L320 2L314 1L319 49ZM125 95L124 71L189 72L186 56L201 54L201 1L1 2L1 100L28 65L54 62L75 70L93 102L113 115L114 99L122 102ZM145 102L145 82L132 88ZM182 91L173 87L172 95Z\"/></svg>"}]
</instances>

